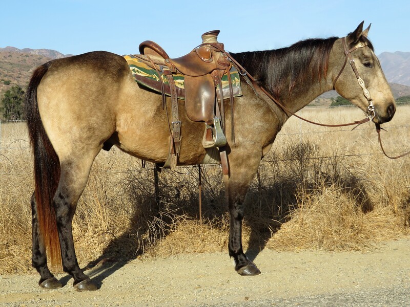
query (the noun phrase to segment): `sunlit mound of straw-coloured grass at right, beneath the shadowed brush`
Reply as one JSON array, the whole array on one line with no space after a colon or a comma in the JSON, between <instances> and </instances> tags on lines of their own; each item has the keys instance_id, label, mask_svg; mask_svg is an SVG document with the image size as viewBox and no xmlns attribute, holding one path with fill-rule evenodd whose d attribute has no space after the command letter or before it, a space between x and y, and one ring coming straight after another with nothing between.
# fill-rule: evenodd
<instances>
[{"instance_id":1,"label":"sunlit mound of straw-coloured grass at right, beneath the shadowed brush","mask_svg":"<svg viewBox=\"0 0 410 307\"><path fill-rule=\"evenodd\" d=\"M323 187L313 195L304 194L290 221L282 225L268 247L363 250L397 235L393 231L397 223L386 218L385 210L364 213L356 201L337 185Z\"/></svg>"}]
</instances>

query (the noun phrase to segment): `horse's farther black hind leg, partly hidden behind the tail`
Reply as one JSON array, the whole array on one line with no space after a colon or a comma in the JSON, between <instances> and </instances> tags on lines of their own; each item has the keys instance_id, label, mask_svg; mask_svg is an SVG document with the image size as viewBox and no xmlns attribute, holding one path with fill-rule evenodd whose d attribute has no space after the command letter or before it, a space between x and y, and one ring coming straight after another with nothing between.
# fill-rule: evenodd
<instances>
[{"instance_id":1,"label":"horse's farther black hind leg, partly hidden behind the tail","mask_svg":"<svg viewBox=\"0 0 410 307\"><path fill-rule=\"evenodd\" d=\"M61 288L63 285L59 282L47 267L47 255L44 240L40 238L40 227L38 224L37 206L34 193L31 196L31 216L32 216L32 234L33 234L33 256L32 265L40 274L38 284L46 289Z\"/></svg>"}]
</instances>

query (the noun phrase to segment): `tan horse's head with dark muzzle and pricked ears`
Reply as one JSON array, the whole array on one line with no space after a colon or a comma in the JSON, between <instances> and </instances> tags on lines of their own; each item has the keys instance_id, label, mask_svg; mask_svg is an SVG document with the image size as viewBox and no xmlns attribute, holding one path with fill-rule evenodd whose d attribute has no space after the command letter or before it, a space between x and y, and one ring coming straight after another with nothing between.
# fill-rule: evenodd
<instances>
[{"instance_id":1,"label":"tan horse's head with dark muzzle and pricked ears","mask_svg":"<svg viewBox=\"0 0 410 307\"><path fill-rule=\"evenodd\" d=\"M363 31L363 23L335 42L330 59L335 64L329 67L332 70L329 75L341 96L365 111L373 122L381 124L393 118L396 103L367 38L370 26Z\"/></svg>"}]
</instances>

